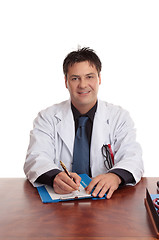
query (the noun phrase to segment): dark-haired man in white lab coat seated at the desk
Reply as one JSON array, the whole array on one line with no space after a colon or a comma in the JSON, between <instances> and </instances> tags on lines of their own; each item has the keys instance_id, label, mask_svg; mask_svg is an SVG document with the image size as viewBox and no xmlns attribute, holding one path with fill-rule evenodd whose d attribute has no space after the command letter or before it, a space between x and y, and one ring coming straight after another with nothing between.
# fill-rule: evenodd
<instances>
[{"instance_id":1,"label":"dark-haired man in white lab coat seated at the desk","mask_svg":"<svg viewBox=\"0 0 159 240\"><path fill-rule=\"evenodd\" d=\"M55 104L39 113L30 134L24 172L30 182L48 184L57 193L79 188L80 177L72 172L74 140L78 119L87 116L89 175L92 181L86 191L107 198L119 186L137 184L143 174L140 145L136 142L134 124L127 111L97 98L101 85L101 61L89 48L71 52L63 62L65 86L70 100ZM103 145L111 146L114 164L108 167ZM81 149L82 151L82 149ZM60 166L66 165L74 181Z\"/></svg>"}]
</instances>

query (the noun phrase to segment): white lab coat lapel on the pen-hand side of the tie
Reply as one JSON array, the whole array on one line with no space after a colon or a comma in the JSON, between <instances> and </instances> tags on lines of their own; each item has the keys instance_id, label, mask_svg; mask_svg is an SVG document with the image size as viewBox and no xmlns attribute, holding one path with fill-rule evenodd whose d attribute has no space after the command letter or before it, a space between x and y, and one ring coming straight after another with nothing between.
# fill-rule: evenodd
<instances>
[{"instance_id":1,"label":"white lab coat lapel on the pen-hand side of the tie","mask_svg":"<svg viewBox=\"0 0 159 240\"><path fill-rule=\"evenodd\" d=\"M57 133L73 156L75 126L70 101L66 101L61 111L55 117L58 119Z\"/></svg>"}]
</instances>

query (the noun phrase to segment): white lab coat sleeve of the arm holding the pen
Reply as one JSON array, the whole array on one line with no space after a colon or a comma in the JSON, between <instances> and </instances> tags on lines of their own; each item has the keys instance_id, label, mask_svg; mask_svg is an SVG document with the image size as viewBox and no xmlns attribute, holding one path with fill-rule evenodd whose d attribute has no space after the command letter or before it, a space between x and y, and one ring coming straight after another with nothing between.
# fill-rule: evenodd
<instances>
[{"instance_id":1,"label":"white lab coat sleeve of the arm holding the pen","mask_svg":"<svg viewBox=\"0 0 159 240\"><path fill-rule=\"evenodd\" d=\"M55 164L55 124L51 114L42 111L34 120L30 132L30 144L27 151L24 172L34 185L43 173L57 169Z\"/></svg>"}]
</instances>

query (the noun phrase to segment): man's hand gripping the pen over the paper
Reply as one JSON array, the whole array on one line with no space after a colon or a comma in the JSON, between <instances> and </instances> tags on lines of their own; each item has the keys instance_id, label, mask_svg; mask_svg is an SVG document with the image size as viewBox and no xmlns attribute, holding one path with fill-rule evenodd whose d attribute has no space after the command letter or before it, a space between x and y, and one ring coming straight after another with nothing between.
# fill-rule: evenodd
<instances>
[{"instance_id":1,"label":"man's hand gripping the pen over the paper","mask_svg":"<svg viewBox=\"0 0 159 240\"><path fill-rule=\"evenodd\" d=\"M72 179L65 172L56 175L53 182L56 193L67 194L79 189L81 177L76 173L70 173L70 175Z\"/></svg>"}]
</instances>

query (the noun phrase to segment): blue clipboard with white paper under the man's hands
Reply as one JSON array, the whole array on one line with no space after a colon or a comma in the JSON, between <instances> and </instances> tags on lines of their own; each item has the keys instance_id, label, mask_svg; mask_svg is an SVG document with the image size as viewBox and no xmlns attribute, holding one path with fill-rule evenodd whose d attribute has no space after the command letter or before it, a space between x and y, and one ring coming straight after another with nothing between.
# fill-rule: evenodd
<instances>
[{"instance_id":1,"label":"blue clipboard with white paper under the man's hands","mask_svg":"<svg viewBox=\"0 0 159 240\"><path fill-rule=\"evenodd\" d=\"M99 198L98 196L93 197L91 194L87 194L85 192L85 187L89 185L89 183L91 182L91 178L87 174L79 174L79 176L81 177L80 191L74 191L73 193L70 194L57 194L54 192L52 187L47 185L37 187L41 201L43 203L55 203L61 201L70 201L86 198L90 198L92 200L106 199L106 194L102 198Z\"/></svg>"}]
</instances>

